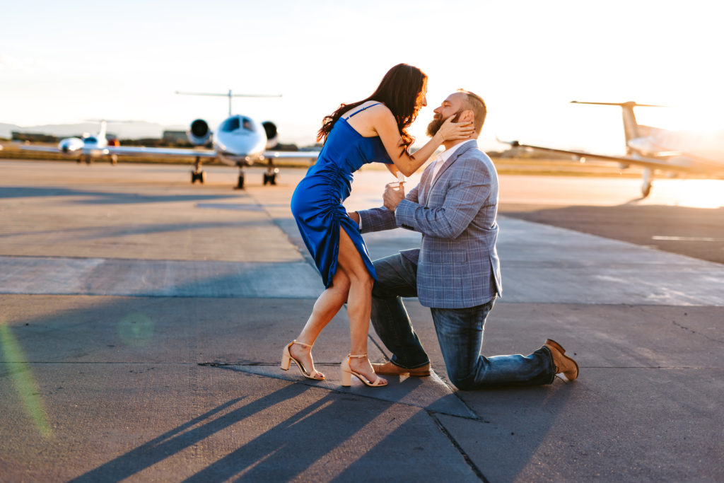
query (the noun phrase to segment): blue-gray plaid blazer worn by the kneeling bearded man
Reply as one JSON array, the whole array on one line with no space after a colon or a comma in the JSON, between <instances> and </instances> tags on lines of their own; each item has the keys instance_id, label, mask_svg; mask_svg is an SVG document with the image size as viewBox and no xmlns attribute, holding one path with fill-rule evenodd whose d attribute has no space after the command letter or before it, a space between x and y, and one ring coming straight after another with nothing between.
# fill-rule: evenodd
<instances>
[{"instance_id":1,"label":"blue-gray plaid blazer worn by the kneeling bearded man","mask_svg":"<svg viewBox=\"0 0 724 483\"><path fill-rule=\"evenodd\" d=\"M426 307L468 308L502 296L492 161L473 141L445 161L432 186L430 177L432 164L394 212L359 211L362 232L403 227L422 233L421 248L401 253L418 264L417 294Z\"/></svg>"}]
</instances>

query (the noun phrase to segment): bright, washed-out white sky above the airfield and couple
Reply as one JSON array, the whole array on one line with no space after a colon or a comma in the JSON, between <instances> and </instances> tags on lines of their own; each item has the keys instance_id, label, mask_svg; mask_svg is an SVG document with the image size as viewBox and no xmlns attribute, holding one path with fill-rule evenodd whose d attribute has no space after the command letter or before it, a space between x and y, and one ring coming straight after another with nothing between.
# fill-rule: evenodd
<instances>
[{"instance_id":1,"label":"bright, washed-out white sky above the airfield and couple","mask_svg":"<svg viewBox=\"0 0 724 483\"><path fill-rule=\"evenodd\" d=\"M324 115L369 96L399 62L429 75L432 109L466 88L495 136L623 149L620 109L639 121L724 128L724 29L716 2L683 1L15 1L0 30L0 122L134 119L211 125L225 98L174 91L282 93L234 111L276 122L282 142L313 143ZM685 113L682 114L682 113Z\"/></svg>"}]
</instances>

